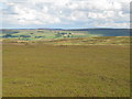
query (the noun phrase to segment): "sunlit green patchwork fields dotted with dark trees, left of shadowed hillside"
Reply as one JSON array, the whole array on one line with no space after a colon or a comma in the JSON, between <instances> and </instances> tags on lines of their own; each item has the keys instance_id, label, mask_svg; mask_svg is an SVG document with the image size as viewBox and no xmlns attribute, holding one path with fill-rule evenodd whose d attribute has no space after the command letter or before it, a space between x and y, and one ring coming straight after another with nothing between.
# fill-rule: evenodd
<instances>
[{"instance_id":1,"label":"sunlit green patchwork fields dotted with dark trees, left of shadowed hillside","mask_svg":"<svg viewBox=\"0 0 132 99\"><path fill-rule=\"evenodd\" d=\"M64 33L64 34L63 34ZM68 35L70 33L70 35ZM0 37L24 41L37 41L50 38L76 38L76 37L89 37L99 36L101 34L90 34L82 31L55 31L55 30L3 30L0 32Z\"/></svg>"}]
</instances>

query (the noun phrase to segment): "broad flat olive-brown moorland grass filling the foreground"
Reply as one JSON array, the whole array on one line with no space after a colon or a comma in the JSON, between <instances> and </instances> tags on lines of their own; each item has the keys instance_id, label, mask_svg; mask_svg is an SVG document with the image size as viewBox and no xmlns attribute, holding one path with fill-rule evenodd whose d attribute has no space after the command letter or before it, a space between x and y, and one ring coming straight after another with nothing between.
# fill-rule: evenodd
<instances>
[{"instance_id":1,"label":"broad flat olive-brown moorland grass filling the foreground","mask_svg":"<svg viewBox=\"0 0 132 99\"><path fill-rule=\"evenodd\" d=\"M3 97L128 97L128 45L3 44Z\"/></svg>"}]
</instances>

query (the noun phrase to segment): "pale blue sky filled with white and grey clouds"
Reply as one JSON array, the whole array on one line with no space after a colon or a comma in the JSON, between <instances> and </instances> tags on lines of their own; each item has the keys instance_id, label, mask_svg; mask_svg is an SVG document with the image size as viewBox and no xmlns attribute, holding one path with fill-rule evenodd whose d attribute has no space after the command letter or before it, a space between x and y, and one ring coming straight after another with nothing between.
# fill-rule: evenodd
<instances>
[{"instance_id":1,"label":"pale blue sky filled with white and grey clouds","mask_svg":"<svg viewBox=\"0 0 132 99\"><path fill-rule=\"evenodd\" d=\"M131 0L1 0L0 28L129 28Z\"/></svg>"}]
</instances>

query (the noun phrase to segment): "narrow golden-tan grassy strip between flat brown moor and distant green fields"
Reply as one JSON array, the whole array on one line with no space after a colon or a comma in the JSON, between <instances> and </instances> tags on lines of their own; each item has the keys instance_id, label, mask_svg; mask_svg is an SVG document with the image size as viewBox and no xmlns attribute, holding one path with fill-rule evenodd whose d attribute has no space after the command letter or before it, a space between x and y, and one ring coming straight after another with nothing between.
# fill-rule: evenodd
<instances>
[{"instance_id":1,"label":"narrow golden-tan grassy strip between flat brown moor and distant green fields","mask_svg":"<svg viewBox=\"0 0 132 99\"><path fill-rule=\"evenodd\" d=\"M80 38L47 38L33 41L18 41L12 38L3 40L3 43L14 44L52 44L52 45L130 45L130 36L96 36L96 37L80 37ZM19 43L18 43L19 42ZM26 42L26 43L24 43Z\"/></svg>"}]
</instances>

